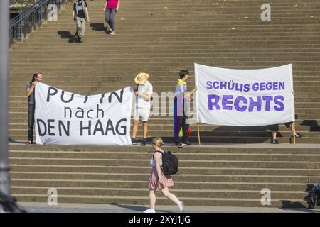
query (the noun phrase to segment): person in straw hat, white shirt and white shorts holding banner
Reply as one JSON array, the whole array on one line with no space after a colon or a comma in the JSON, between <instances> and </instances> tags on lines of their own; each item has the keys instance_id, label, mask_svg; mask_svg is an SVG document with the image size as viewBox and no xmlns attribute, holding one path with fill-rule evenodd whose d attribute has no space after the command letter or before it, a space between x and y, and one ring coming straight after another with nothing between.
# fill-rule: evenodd
<instances>
[{"instance_id":1,"label":"person in straw hat, white shirt and white shorts holding banner","mask_svg":"<svg viewBox=\"0 0 320 227\"><path fill-rule=\"evenodd\" d=\"M134 79L137 89L134 89L136 103L134 104L134 125L132 128L132 145L137 144L136 135L138 131L139 119L142 119L143 139L141 145L146 145L146 135L148 133L148 119L151 108L152 84L148 81L149 74L139 73Z\"/></svg>"}]
</instances>

